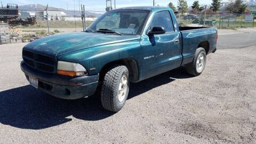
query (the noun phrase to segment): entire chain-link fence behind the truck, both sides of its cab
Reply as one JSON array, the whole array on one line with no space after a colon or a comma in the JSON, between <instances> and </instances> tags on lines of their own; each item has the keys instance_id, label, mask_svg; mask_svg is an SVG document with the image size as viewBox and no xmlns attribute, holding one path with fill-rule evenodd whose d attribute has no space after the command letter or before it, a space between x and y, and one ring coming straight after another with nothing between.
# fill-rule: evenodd
<instances>
[{"instance_id":1,"label":"entire chain-link fence behind the truck, both sides of its cab","mask_svg":"<svg viewBox=\"0 0 256 144\"><path fill-rule=\"evenodd\" d=\"M0 44L34 41L34 39L83 31L103 11L18 9L7 4L0 8ZM247 28L256 27L255 15L251 14L176 14L180 26Z\"/></svg>"}]
</instances>

